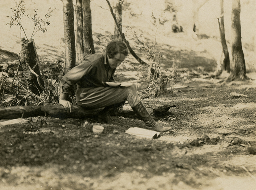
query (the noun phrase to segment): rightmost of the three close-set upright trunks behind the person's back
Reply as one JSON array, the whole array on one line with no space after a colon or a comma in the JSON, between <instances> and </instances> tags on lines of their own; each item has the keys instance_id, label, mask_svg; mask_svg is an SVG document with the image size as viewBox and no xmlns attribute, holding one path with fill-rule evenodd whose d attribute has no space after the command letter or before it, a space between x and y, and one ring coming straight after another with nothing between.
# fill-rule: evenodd
<instances>
[{"instance_id":1,"label":"rightmost of the three close-set upright trunks behind the person's back","mask_svg":"<svg viewBox=\"0 0 256 190\"><path fill-rule=\"evenodd\" d=\"M91 29L91 5L90 0L82 0L83 8L83 56L94 54L93 32Z\"/></svg>"}]
</instances>

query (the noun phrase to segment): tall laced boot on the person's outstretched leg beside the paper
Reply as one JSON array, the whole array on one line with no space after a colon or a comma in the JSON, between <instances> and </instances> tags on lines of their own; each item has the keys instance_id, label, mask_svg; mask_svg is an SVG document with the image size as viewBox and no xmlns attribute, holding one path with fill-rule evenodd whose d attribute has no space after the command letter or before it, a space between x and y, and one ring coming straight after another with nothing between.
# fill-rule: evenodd
<instances>
[{"instance_id":1,"label":"tall laced boot on the person's outstretched leg beside the paper","mask_svg":"<svg viewBox=\"0 0 256 190\"><path fill-rule=\"evenodd\" d=\"M158 122L155 122L155 120L147 112L146 107L143 105L141 101L136 106L132 107L132 110L136 113L136 115L139 116L141 120L143 120L146 123L149 129L159 131L159 132L165 132L165 131L169 131L172 128L172 127L164 127Z\"/></svg>"}]
</instances>

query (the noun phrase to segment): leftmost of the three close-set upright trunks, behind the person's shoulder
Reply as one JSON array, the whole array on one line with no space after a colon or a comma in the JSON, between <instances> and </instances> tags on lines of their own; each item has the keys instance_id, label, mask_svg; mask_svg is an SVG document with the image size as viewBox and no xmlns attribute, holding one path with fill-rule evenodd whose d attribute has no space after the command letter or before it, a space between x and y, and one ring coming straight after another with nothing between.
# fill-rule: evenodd
<instances>
[{"instance_id":1,"label":"leftmost of the three close-set upright trunks, behind the person's shoulder","mask_svg":"<svg viewBox=\"0 0 256 190\"><path fill-rule=\"evenodd\" d=\"M65 68L64 74L76 64L74 8L72 0L63 0L63 22L65 40Z\"/></svg>"}]
</instances>

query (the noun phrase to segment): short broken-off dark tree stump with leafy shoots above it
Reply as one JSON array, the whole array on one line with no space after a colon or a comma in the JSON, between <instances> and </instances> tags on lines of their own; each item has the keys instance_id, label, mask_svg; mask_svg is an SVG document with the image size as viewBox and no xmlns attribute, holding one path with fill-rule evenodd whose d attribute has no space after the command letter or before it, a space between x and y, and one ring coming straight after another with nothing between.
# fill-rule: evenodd
<instances>
[{"instance_id":1,"label":"short broken-off dark tree stump with leafy shoots above it","mask_svg":"<svg viewBox=\"0 0 256 190\"><path fill-rule=\"evenodd\" d=\"M42 92L44 81L41 78L37 63L38 57L35 50L34 41L32 39L25 40L25 38L23 38L21 45L22 49L20 52L20 63L23 70L25 84L31 92L39 95Z\"/></svg>"}]
</instances>

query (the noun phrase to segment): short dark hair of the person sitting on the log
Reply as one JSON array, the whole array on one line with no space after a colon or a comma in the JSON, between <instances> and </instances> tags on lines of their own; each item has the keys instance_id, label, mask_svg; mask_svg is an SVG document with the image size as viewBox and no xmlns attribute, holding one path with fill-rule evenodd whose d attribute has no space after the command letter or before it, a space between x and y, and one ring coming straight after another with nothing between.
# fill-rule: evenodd
<instances>
[{"instance_id":1,"label":"short dark hair of the person sitting on the log","mask_svg":"<svg viewBox=\"0 0 256 190\"><path fill-rule=\"evenodd\" d=\"M116 54L128 55L128 48L123 41L110 41L106 47L106 53L110 59L112 59Z\"/></svg>"}]
</instances>

